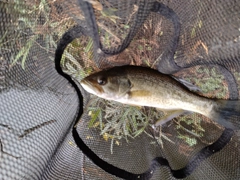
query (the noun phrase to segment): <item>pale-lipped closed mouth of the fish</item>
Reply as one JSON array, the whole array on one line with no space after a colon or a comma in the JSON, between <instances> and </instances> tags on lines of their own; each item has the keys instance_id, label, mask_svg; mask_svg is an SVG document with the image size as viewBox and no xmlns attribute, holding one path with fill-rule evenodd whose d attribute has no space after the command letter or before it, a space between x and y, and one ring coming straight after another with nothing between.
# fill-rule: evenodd
<instances>
[{"instance_id":1,"label":"pale-lipped closed mouth of the fish","mask_svg":"<svg viewBox=\"0 0 240 180\"><path fill-rule=\"evenodd\" d=\"M87 92L89 92L91 94L100 95L103 93L103 89L98 84L96 84L94 81L91 82L91 80L83 79L83 80L81 80L80 84Z\"/></svg>"}]
</instances>

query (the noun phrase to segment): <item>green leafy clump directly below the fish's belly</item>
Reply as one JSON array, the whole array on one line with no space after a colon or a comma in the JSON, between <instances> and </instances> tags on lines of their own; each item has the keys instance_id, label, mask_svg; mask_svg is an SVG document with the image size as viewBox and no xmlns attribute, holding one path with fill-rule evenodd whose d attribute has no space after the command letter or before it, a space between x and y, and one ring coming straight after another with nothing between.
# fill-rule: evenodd
<instances>
[{"instance_id":1,"label":"green leafy clump directly below the fish's belly","mask_svg":"<svg viewBox=\"0 0 240 180\"><path fill-rule=\"evenodd\" d=\"M154 108L137 107L107 101L92 95L87 109L91 117L90 128L98 128L107 141L111 140L111 152L114 142L124 138L136 138L143 132L150 122L154 122L163 115Z\"/></svg>"}]
</instances>

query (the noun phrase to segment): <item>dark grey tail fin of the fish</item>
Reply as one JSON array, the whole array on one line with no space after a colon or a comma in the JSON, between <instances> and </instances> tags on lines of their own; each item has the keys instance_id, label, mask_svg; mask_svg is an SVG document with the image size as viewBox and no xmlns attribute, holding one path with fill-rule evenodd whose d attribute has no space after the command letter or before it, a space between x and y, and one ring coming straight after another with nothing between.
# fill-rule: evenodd
<instances>
[{"instance_id":1,"label":"dark grey tail fin of the fish","mask_svg":"<svg viewBox=\"0 0 240 180\"><path fill-rule=\"evenodd\" d=\"M240 100L217 100L209 118L226 128L240 129Z\"/></svg>"}]
</instances>

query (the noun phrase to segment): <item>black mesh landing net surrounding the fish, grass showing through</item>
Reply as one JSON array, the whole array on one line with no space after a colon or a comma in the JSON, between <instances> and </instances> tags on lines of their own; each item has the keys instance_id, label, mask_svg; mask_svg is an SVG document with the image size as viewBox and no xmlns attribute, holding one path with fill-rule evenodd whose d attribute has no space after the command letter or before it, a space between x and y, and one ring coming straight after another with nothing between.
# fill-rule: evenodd
<instances>
[{"instance_id":1,"label":"black mesh landing net surrounding the fish, grass showing through","mask_svg":"<svg viewBox=\"0 0 240 180\"><path fill-rule=\"evenodd\" d=\"M196 113L153 130L162 112L79 85L102 69L137 65L202 96L237 100L239 11L223 0L0 0L0 179L239 179L239 130ZM239 117L229 121L239 129ZM97 164L84 145L118 169Z\"/></svg>"}]
</instances>

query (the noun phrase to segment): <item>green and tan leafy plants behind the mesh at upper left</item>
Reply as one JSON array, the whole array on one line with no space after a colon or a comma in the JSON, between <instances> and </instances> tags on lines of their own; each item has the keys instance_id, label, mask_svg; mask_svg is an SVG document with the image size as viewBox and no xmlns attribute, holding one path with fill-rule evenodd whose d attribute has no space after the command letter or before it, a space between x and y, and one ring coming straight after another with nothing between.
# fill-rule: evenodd
<instances>
[{"instance_id":1,"label":"green and tan leafy plants behind the mesh at upper left","mask_svg":"<svg viewBox=\"0 0 240 180\"><path fill-rule=\"evenodd\" d=\"M11 66L20 61L23 69L25 69L27 57L34 45L46 50L47 53L54 53L59 37L67 31L68 27L75 24L72 18L66 15L63 17L64 14L58 12L54 0L27 3L17 0L14 1L14 11L19 14L16 20L19 51L12 58Z\"/></svg>"}]
</instances>

